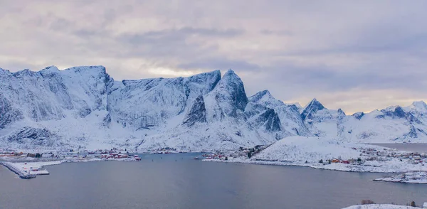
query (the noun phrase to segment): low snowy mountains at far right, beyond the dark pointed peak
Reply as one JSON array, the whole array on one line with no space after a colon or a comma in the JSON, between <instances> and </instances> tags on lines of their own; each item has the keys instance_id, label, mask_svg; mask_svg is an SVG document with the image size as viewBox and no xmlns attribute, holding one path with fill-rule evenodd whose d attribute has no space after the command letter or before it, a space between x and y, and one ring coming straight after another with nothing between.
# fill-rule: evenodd
<instances>
[{"instance_id":1,"label":"low snowy mountains at far right, beyond the dark pointed peak","mask_svg":"<svg viewBox=\"0 0 427 209\"><path fill-rule=\"evenodd\" d=\"M424 102L408 107L387 107L367 114L355 113L342 120L341 138L363 142L426 142L427 108Z\"/></svg>"}]
</instances>

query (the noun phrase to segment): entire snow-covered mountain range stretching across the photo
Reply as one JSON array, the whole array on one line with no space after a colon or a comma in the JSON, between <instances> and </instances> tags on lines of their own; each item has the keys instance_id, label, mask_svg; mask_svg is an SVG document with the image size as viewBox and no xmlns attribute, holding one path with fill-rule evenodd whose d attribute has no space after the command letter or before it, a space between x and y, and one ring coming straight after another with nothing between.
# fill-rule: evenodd
<instances>
[{"instance_id":1,"label":"entire snow-covered mountain range stretching across the photo","mask_svg":"<svg viewBox=\"0 0 427 209\"><path fill-rule=\"evenodd\" d=\"M427 142L427 104L345 114L268 90L247 97L233 70L115 81L102 66L0 68L0 149L233 150L287 136Z\"/></svg>"}]
</instances>

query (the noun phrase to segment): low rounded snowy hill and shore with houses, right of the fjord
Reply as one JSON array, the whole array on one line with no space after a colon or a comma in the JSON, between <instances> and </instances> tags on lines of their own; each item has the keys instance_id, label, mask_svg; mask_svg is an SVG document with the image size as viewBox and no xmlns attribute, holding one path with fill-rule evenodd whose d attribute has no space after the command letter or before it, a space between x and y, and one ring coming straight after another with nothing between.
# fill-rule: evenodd
<instances>
[{"instance_id":1,"label":"low rounded snowy hill and shore with houses, right of the fjord","mask_svg":"<svg viewBox=\"0 0 427 209\"><path fill-rule=\"evenodd\" d=\"M251 158L248 158L251 152ZM427 171L423 154L411 154L382 146L355 144L336 139L293 136L262 150L243 150L230 154L226 161L244 164L308 166L334 171L404 173Z\"/></svg>"}]
</instances>

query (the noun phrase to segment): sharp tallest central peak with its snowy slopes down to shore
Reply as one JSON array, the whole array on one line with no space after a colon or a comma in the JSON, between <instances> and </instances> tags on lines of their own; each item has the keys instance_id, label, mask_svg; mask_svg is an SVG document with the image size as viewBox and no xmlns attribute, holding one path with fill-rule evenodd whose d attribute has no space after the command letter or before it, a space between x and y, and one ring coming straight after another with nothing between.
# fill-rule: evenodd
<instances>
[{"instance_id":1,"label":"sharp tallest central peak with its snowy slopes down to shore","mask_svg":"<svg viewBox=\"0 0 427 209\"><path fill-rule=\"evenodd\" d=\"M179 150L234 150L240 146L269 144L275 130L258 129L243 112L248 98L241 78L228 70L211 92L196 97L184 122L159 134L144 137L141 150L174 147ZM268 124L270 117L261 119ZM274 120L274 119L273 119ZM274 127L272 124L271 126Z\"/></svg>"}]
</instances>

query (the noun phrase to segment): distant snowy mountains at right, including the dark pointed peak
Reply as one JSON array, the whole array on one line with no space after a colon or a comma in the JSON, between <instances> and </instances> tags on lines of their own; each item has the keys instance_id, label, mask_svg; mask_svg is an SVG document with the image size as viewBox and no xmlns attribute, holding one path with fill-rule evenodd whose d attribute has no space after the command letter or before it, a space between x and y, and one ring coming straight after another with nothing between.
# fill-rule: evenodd
<instances>
[{"instance_id":1,"label":"distant snowy mountains at right, including the dark pointed peak","mask_svg":"<svg viewBox=\"0 0 427 209\"><path fill-rule=\"evenodd\" d=\"M424 102L346 115L342 109L327 109L316 99L301 113L306 127L315 136L362 143L427 142L426 116Z\"/></svg>"}]
</instances>

